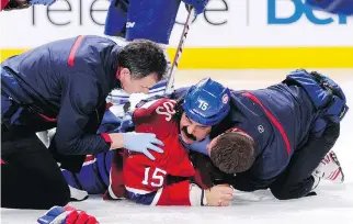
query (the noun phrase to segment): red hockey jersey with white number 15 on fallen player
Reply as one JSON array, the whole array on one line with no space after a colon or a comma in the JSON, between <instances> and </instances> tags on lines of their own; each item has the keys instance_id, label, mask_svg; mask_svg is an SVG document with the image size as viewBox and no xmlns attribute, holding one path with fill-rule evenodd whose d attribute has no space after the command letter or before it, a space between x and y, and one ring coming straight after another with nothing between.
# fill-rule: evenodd
<instances>
[{"instance_id":1,"label":"red hockey jersey with white number 15 on fallen player","mask_svg":"<svg viewBox=\"0 0 353 224\"><path fill-rule=\"evenodd\" d=\"M127 194L127 198L141 204L191 205L190 181L186 178L193 177L195 170L179 141L174 107L175 101L159 99L147 102L135 111L135 131L155 133L163 142L164 153L150 150L156 160L150 160L144 154L116 153L111 170L111 186L106 193L109 197L105 198L118 199ZM185 178L169 184L167 179L171 176Z\"/></svg>"}]
</instances>

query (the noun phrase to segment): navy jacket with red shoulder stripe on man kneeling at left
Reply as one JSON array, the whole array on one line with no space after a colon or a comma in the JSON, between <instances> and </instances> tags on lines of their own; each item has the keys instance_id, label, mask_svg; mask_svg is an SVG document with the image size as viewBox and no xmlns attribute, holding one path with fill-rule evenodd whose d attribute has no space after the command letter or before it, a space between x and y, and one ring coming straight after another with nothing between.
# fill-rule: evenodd
<instances>
[{"instance_id":1,"label":"navy jacket with red shoulder stripe on man kneeling at left","mask_svg":"<svg viewBox=\"0 0 353 224\"><path fill-rule=\"evenodd\" d=\"M105 98L121 83L116 79L117 55L113 41L100 36L60 40L11 57L1 64L2 98L8 108L21 105L7 114L8 127L38 132L57 126L56 148L64 155L88 155L110 149L96 134ZM41 114L33 125L31 109ZM2 120L4 113L2 110ZM33 114L32 114L33 115ZM49 125L48 125L49 124Z\"/></svg>"}]
</instances>

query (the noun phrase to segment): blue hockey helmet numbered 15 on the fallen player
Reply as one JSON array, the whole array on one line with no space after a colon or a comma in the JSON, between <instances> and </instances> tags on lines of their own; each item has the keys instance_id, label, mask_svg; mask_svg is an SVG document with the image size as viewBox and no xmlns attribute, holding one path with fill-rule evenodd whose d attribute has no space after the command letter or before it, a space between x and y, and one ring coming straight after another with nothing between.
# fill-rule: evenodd
<instances>
[{"instance_id":1,"label":"blue hockey helmet numbered 15 on the fallen player","mask_svg":"<svg viewBox=\"0 0 353 224\"><path fill-rule=\"evenodd\" d=\"M213 126L226 117L230 110L230 91L210 78L192 86L182 104L186 115L202 124Z\"/></svg>"}]
</instances>

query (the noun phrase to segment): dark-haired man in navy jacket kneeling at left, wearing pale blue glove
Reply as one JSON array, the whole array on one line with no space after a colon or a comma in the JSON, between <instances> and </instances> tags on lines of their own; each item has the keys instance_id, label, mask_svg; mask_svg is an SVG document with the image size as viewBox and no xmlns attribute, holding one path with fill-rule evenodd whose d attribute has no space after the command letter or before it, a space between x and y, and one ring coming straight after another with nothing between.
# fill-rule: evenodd
<instances>
[{"instance_id":1,"label":"dark-haired man in navy jacket kneeling at left, wearing pale blue glove","mask_svg":"<svg viewBox=\"0 0 353 224\"><path fill-rule=\"evenodd\" d=\"M86 155L122 147L146 153L146 145L156 144L156 137L96 133L105 99L114 88L147 93L166 67L163 51L150 41L119 47L110 38L92 35L52 42L3 61L1 205L48 209L65 204L68 186L56 161L79 171ZM52 127L57 130L48 150L35 133Z\"/></svg>"}]
</instances>

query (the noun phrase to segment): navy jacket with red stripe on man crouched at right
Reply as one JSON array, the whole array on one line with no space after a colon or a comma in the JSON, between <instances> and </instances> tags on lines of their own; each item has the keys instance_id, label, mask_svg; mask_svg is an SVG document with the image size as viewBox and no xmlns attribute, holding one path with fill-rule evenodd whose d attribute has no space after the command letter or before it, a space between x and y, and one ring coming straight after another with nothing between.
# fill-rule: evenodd
<instances>
[{"instance_id":1,"label":"navy jacket with red stripe on man crouched at right","mask_svg":"<svg viewBox=\"0 0 353 224\"><path fill-rule=\"evenodd\" d=\"M179 89L172 97L180 98L186 90ZM285 83L253 91L231 91L231 111L213 128L210 137L231 127L242 130L257 146L255 163L247 172L255 179L276 177L312 131L319 114L310 98L301 87Z\"/></svg>"}]
</instances>

